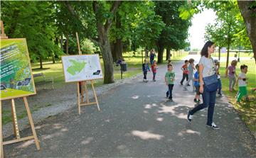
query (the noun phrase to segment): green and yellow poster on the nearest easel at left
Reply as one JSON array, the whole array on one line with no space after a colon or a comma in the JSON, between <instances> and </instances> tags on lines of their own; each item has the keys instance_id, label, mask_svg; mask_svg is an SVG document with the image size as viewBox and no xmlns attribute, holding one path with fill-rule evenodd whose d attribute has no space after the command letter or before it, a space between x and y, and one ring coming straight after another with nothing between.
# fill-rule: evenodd
<instances>
[{"instance_id":1,"label":"green and yellow poster on the nearest easel at left","mask_svg":"<svg viewBox=\"0 0 256 158\"><path fill-rule=\"evenodd\" d=\"M1 100L36 94L25 38L1 39Z\"/></svg>"}]
</instances>

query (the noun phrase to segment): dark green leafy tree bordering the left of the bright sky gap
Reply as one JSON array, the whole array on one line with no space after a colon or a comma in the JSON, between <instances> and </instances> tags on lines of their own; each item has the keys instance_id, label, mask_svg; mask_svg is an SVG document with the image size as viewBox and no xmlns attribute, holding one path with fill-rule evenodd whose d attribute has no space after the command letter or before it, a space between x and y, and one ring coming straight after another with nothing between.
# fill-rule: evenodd
<instances>
[{"instance_id":1,"label":"dark green leafy tree bordering the left of the bright sky gap","mask_svg":"<svg viewBox=\"0 0 256 158\"><path fill-rule=\"evenodd\" d=\"M158 62L163 62L164 48L182 49L188 43L188 27L191 26L190 18L183 20L179 17L179 7L186 4L186 1L155 1L156 14L161 16L162 21L166 24L161 31L159 38L156 40L158 49Z\"/></svg>"}]
</instances>

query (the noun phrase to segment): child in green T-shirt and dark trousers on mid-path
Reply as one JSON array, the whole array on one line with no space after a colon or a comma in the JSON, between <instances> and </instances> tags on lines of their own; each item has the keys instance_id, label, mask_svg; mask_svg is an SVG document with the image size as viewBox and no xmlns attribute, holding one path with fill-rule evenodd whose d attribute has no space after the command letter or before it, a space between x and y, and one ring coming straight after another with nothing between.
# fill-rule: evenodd
<instances>
[{"instance_id":1,"label":"child in green T-shirt and dark trousers on mid-path","mask_svg":"<svg viewBox=\"0 0 256 158\"><path fill-rule=\"evenodd\" d=\"M166 92L166 96L169 96L169 100L173 101L172 99L172 90L174 89L174 79L175 79L175 73L173 71L173 66L172 64L168 64L167 65L167 70L168 72L166 72L165 75L165 82L166 85L168 86L168 91Z\"/></svg>"}]
</instances>

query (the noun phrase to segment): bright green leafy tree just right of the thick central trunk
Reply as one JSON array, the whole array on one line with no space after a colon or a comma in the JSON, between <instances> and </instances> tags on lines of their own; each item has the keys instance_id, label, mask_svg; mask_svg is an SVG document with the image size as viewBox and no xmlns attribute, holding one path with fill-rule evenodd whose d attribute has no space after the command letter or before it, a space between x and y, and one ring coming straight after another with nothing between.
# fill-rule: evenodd
<instances>
[{"instance_id":1,"label":"bright green leafy tree just right of the thick central trunk","mask_svg":"<svg viewBox=\"0 0 256 158\"><path fill-rule=\"evenodd\" d=\"M154 39L159 37L164 23L154 12L152 1L122 1L110 29L112 55L114 60L122 56L123 42L132 43L132 50L137 47L154 47Z\"/></svg>"}]
</instances>

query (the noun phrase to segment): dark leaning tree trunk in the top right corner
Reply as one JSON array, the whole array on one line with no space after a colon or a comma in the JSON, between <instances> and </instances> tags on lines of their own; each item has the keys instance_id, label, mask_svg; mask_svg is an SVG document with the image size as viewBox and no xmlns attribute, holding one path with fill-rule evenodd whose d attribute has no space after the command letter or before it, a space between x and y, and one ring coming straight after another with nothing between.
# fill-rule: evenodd
<instances>
[{"instance_id":1,"label":"dark leaning tree trunk in the top right corner","mask_svg":"<svg viewBox=\"0 0 256 158\"><path fill-rule=\"evenodd\" d=\"M238 6L240 12L242 13L242 18L245 21L245 26L247 30L248 37L252 45L252 51L255 57L256 63L256 9L255 1L238 1ZM254 5L254 7L252 7ZM250 8L251 6L251 8Z\"/></svg>"}]
</instances>

